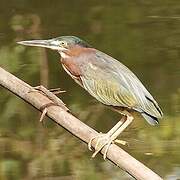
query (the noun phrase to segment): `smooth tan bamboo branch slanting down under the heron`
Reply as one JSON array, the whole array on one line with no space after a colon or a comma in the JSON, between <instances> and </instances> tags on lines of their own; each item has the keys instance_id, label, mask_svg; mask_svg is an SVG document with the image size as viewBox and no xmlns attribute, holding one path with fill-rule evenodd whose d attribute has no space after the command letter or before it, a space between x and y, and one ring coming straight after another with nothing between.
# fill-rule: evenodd
<instances>
[{"instance_id":1,"label":"smooth tan bamboo branch slanting down under the heron","mask_svg":"<svg viewBox=\"0 0 180 180\"><path fill-rule=\"evenodd\" d=\"M50 99L39 92L34 91L29 93L29 91L32 90L30 85L5 71L1 67L0 85L7 88L9 91L13 92L38 110L40 110L42 106L52 103ZM85 143L88 143L92 137L98 134L94 129L81 122L60 106L48 107L47 116ZM96 140L93 142L94 147ZM102 149L102 154L104 153L104 150L105 148ZM115 144L112 144L109 147L107 158L136 179L162 180L160 176Z\"/></svg>"}]
</instances>

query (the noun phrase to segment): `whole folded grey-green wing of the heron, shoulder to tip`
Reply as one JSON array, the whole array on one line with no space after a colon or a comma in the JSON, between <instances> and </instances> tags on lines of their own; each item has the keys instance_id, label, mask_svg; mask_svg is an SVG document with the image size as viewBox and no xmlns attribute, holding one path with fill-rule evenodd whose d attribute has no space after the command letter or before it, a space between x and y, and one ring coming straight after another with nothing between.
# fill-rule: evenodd
<instances>
[{"instance_id":1,"label":"whole folded grey-green wing of the heron, shoulder to tip","mask_svg":"<svg viewBox=\"0 0 180 180\"><path fill-rule=\"evenodd\" d=\"M161 118L157 102L125 65L101 51L84 59L81 80L92 96L106 105L128 107Z\"/></svg>"}]
</instances>

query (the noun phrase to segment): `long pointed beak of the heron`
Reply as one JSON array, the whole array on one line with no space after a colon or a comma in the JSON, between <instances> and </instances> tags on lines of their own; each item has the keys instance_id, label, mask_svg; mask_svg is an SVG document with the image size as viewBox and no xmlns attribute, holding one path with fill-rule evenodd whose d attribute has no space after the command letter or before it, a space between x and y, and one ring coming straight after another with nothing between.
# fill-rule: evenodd
<instances>
[{"instance_id":1,"label":"long pointed beak of the heron","mask_svg":"<svg viewBox=\"0 0 180 180\"><path fill-rule=\"evenodd\" d=\"M49 48L49 49L58 50L58 51L64 50L64 48L61 47L55 39L19 41L17 43L21 45L25 45L25 46L44 47L44 48Z\"/></svg>"}]
</instances>

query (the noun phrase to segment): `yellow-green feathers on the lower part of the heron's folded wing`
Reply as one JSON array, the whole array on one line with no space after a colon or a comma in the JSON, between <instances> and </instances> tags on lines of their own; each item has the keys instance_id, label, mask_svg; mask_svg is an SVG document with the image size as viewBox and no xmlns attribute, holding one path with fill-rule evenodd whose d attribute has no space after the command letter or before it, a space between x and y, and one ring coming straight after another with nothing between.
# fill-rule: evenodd
<instances>
[{"instance_id":1,"label":"yellow-green feathers on the lower part of the heron's folded wing","mask_svg":"<svg viewBox=\"0 0 180 180\"><path fill-rule=\"evenodd\" d=\"M125 88L119 86L117 82L107 79L81 78L84 88L96 99L106 105L122 106L132 108L136 105L135 98Z\"/></svg>"}]
</instances>

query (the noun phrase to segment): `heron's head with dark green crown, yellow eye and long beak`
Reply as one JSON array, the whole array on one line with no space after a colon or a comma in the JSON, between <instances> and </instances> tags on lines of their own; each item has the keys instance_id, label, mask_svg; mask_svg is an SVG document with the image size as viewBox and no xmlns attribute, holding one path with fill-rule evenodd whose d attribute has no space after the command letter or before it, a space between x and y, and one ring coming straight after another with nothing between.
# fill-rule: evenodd
<instances>
[{"instance_id":1,"label":"heron's head with dark green crown, yellow eye and long beak","mask_svg":"<svg viewBox=\"0 0 180 180\"><path fill-rule=\"evenodd\" d=\"M18 44L22 44L25 46L38 46L45 47L52 50L57 50L60 54L65 51L69 51L75 46L88 48L90 45L85 41L81 40L76 36L60 36L53 39L48 40L28 40L28 41L20 41Z\"/></svg>"}]
</instances>

